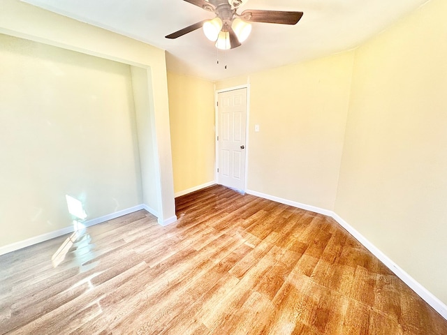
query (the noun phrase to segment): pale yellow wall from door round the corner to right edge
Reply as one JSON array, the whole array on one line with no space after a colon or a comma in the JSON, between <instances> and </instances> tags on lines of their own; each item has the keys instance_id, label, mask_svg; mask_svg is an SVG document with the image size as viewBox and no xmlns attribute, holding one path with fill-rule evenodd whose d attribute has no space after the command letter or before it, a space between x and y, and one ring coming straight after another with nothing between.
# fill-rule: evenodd
<instances>
[{"instance_id":1,"label":"pale yellow wall from door round the corner to right edge","mask_svg":"<svg viewBox=\"0 0 447 335\"><path fill-rule=\"evenodd\" d=\"M217 89L251 85L249 189L334 210L447 303L444 13L432 0L354 52Z\"/></svg>"}]
</instances>

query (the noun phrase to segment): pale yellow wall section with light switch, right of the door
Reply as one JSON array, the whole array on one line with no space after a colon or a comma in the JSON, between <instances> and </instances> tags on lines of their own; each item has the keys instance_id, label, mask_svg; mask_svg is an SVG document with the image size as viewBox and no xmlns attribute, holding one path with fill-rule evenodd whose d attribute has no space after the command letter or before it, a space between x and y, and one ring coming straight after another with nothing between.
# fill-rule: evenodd
<instances>
[{"instance_id":1,"label":"pale yellow wall section with light switch, right of the door","mask_svg":"<svg viewBox=\"0 0 447 335\"><path fill-rule=\"evenodd\" d=\"M250 83L249 190L334 208L352 67L346 52L217 84Z\"/></svg>"}]
</instances>

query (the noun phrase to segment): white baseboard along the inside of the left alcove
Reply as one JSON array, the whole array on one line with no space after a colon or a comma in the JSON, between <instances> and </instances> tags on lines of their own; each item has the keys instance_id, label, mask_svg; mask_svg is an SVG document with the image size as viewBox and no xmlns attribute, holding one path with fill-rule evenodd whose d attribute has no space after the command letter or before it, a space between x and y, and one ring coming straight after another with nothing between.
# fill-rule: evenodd
<instances>
[{"instance_id":1,"label":"white baseboard along the inside of the left alcove","mask_svg":"<svg viewBox=\"0 0 447 335\"><path fill-rule=\"evenodd\" d=\"M105 221L112 220L113 218L119 218L119 216L131 214L134 211L140 211L141 209L145 209L145 210L149 211L149 213L154 214L154 210L150 209L146 204L138 204L138 206L123 209L121 211L116 211L115 213L101 216L99 218L93 218L91 220L83 222L82 224L85 225L85 227L90 227L91 225L97 225L98 223L103 223ZM156 216L156 214L154 214L154 215ZM19 250L22 248L27 248L27 246L32 246L34 244L38 244L43 241L47 241L49 239L54 239L54 237L59 237L59 236L65 235L65 234L70 234L71 232L73 232L73 225L70 227L59 229L59 230L54 230L53 232L47 232L45 234L41 234L36 237L31 237L31 238L25 239L23 241L18 241L13 244L7 244L6 246L0 246L0 255L4 255L6 253L10 253L12 251L16 251L16 250Z\"/></svg>"}]
</instances>

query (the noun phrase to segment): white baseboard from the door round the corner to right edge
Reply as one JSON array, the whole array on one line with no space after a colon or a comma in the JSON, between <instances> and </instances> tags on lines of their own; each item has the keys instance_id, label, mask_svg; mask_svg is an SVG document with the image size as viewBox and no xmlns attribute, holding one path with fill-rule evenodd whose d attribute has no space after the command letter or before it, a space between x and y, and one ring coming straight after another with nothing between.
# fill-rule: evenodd
<instances>
[{"instance_id":1,"label":"white baseboard from the door round the corner to right edge","mask_svg":"<svg viewBox=\"0 0 447 335\"><path fill-rule=\"evenodd\" d=\"M346 229L349 234L351 234L357 241L360 242L365 248L367 248L376 258L378 258L381 262L383 262L388 269L393 271L393 273L402 279L406 285L411 288L414 292L416 292L419 297L424 299L427 304L432 306L435 311L437 311L444 319L447 320L447 305L444 304L441 300L439 300L437 297L435 297L429 290L423 287L423 285L420 285L418 281L416 281L413 277L411 277L409 274L406 273L403 269L401 269L393 260L391 260L387 255L385 255L382 251L379 250L374 244L372 244L370 241L368 241L360 232L358 232L356 229L354 229L349 223L344 221L340 216L335 214L334 211L329 211L328 209L322 209L319 207L314 207L308 204L302 204L300 202L295 202L291 200L286 200L282 198L275 197L274 195L268 195L256 191L247 190L247 193L251 195L256 195L257 197L272 200L279 202L281 204L288 204L293 207L297 207L300 209L305 209L307 211L313 211L314 213L323 214L325 216L330 216L334 218L339 225L341 225L344 229Z\"/></svg>"}]
</instances>

